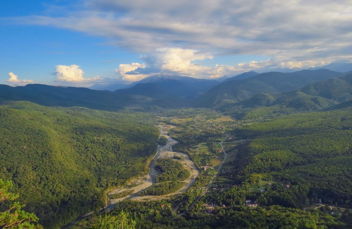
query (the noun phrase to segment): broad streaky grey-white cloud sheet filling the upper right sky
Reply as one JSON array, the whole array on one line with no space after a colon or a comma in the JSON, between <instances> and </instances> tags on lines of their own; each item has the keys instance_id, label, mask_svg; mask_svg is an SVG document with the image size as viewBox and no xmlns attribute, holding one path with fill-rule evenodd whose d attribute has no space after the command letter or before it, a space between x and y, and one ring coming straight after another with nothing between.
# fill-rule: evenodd
<instances>
[{"instance_id":1,"label":"broad streaky grey-white cloud sheet filling the upper right sky","mask_svg":"<svg viewBox=\"0 0 352 229\"><path fill-rule=\"evenodd\" d=\"M14 20L103 36L108 44L139 53L181 47L282 62L352 57L348 0L91 0L81 9Z\"/></svg>"}]
</instances>

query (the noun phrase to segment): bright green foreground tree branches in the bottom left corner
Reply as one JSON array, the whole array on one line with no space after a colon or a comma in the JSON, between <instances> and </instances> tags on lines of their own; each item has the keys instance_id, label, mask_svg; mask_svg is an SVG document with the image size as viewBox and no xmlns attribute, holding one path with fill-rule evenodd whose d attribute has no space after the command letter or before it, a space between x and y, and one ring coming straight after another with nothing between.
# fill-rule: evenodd
<instances>
[{"instance_id":1,"label":"bright green foreground tree branches in the bottom left corner","mask_svg":"<svg viewBox=\"0 0 352 229\"><path fill-rule=\"evenodd\" d=\"M11 181L0 179L0 229L35 229L42 228L39 224L34 225L32 222L38 222L38 217L33 213L21 210L25 205L19 202L13 202L19 197L18 194L9 192L13 186Z\"/></svg>"}]
</instances>

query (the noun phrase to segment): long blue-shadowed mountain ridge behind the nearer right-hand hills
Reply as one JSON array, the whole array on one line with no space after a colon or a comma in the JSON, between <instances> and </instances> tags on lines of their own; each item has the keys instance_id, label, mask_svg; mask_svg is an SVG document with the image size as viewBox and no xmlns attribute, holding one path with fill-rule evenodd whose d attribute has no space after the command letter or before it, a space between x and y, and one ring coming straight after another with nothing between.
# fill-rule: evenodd
<instances>
[{"instance_id":1,"label":"long blue-shadowed mountain ridge behind the nearer right-hand hills","mask_svg":"<svg viewBox=\"0 0 352 229\"><path fill-rule=\"evenodd\" d=\"M323 79L343 74L327 69L302 70L292 73L266 72L246 79L223 82L206 91L196 101L199 107L219 108L246 100L259 93L277 94L291 91Z\"/></svg>"}]
</instances>

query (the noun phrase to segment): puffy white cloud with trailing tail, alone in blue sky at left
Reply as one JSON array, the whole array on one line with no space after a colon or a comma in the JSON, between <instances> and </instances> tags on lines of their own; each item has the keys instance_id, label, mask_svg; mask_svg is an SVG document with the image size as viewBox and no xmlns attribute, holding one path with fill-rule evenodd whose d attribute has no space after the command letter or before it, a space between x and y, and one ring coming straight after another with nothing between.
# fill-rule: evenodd
<instances>
[{"instance_id":1,"label":"puffy white cloud with trailing tail, alone in blue sky at left","mask_svg":"<svg viewBox=\"0 0 352 229\"><path fill-rule=\"evenodd\" d=\"M63 82L93 82L93 81L101 81L103 78L96 76L94 78L83 78L84 72L80 69L80 66L71 64L68 65L56 65L56 80Z\"/></svg>"}]
</instances>

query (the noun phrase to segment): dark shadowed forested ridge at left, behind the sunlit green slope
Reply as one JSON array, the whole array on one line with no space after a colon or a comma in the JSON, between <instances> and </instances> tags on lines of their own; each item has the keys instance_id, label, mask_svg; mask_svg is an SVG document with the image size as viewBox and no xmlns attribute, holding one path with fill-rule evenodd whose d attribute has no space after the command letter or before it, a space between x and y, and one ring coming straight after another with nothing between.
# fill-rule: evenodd
<instances>
[{"instance_id":1,"label":"dark shadowed forested ridge at left, behind the sunlit green slope","mask_svg":"<svg viewBox=\"0 0 352 229\"><path fill-rule=\"evenodd\" d=\"M114 92L44 84L27 84L18 87L0 84L0 103L10 101L30 101L43 106L78 106L107 111L121 111L126 107L143 109L185 105L181 97L175 94L169 95L162 87L143 84Z\"/></svg>"}]
</instances>

